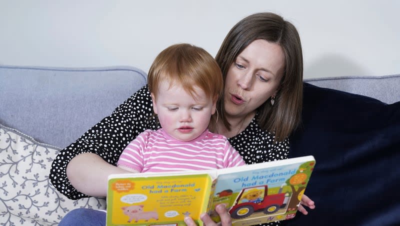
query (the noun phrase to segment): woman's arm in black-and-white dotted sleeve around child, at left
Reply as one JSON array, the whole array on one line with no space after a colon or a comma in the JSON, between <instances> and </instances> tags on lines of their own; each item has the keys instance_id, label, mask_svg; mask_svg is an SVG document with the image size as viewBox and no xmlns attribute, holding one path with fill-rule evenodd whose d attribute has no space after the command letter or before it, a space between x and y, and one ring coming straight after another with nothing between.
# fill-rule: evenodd
<instances>
[{"instance_id":1,"label":"woman's arm in black-and-white dotted sleeve around child, at left","mask_svg":"<svg viewBox=\"0 0 400 226\"><path fill-rule=\"evenodd\" d=\"M70 199L105 195L108 174L120 172L123 148L140 132L159 125L150 119L151 97L143 86L80 138L62 149L51 164L50 181Z\"/></svg>"}]
</instances>

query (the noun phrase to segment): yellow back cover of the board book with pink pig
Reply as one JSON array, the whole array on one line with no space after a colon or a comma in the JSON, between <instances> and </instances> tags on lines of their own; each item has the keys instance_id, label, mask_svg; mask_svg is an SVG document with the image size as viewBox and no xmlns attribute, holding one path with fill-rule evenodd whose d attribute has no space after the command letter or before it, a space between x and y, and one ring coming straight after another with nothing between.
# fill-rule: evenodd
<instances>
[{"instance_id":1,"label":"yellow back cover of the board book with pink pig","mask_svg":"<svg viewBox=\"0 0 400 226\"><path fill-rule=\"evenodd\" d=\"M110 179L107 225L185 225L185 215L201 225L210 186L208 174Z\"/></svg>"}]
</instances>

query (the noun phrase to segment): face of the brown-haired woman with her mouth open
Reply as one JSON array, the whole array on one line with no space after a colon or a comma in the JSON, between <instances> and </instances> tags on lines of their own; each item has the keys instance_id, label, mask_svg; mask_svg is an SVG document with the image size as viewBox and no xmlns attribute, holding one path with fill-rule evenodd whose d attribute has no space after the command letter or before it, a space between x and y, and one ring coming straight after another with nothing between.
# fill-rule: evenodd
<instances>
[{"instance_id":1,"label":"face of the brown-haired woman with her mouth open","mask_svg":"<svg viewBox=\"0 0 400 226\"><path fill-rule=\"evenodd\" d=\"M224 108L227 117L245 117L275 95L284 70L279 44L257 39L230 65L225 79Z\"/></svg>"}]
</instances>

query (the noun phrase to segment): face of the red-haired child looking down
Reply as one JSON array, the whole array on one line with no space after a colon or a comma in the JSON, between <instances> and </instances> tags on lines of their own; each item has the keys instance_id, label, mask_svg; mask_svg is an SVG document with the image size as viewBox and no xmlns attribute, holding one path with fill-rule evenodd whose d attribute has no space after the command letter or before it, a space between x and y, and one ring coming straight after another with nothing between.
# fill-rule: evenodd
<instances>
[{"instance_id":1,"label":"face of the red-haired child looking down","mask_svg":"<svg viewBox=\"0 0 400 226\"><path fill-rule=\"evenodd\" d=\"M169 82L163 81L158 87L157 100L151 93L153 109L158 114L161 127L181 141L199 136L208 127L211 114L215 112L215 102L200 88L195 87L194 90L197 94L195 98L180 84L169 87Z\"/></svg>"}]
</instances>

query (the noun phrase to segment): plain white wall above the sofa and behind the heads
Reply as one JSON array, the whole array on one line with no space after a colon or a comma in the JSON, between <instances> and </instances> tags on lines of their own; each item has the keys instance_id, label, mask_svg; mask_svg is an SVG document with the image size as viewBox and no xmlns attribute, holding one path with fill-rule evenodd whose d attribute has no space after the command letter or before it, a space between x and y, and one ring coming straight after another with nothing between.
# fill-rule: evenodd
<instances>
[{"instance_id":1,"label":"plain white wall above the sofa and behind the heads","mask_svg":"<svg viewBox=\"0 0 400 226\"><path fill-rule=\"evenodd\" d=\"M397 0L0 0L0 64L147 72L177 42L215 55L233 24L259 11L297 27L305 78L400 73Z\"/></svg>"}]
</instances>

